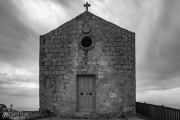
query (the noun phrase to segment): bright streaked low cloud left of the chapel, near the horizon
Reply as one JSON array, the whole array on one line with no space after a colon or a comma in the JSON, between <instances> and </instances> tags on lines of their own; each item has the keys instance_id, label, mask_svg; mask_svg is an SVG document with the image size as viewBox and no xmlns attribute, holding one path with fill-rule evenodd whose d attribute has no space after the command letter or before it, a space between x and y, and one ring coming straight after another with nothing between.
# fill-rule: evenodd
<instances>
[{"instance_id":1,"label":"bright streaked low cloud left of the chapel, near the horizon","mask_svg":"<svg viewBox=\"0 0 180 120\"><path fill-rule=\"evenodd\" d=\"M25 68L0 64L0 95L38 97L38 76Z\"/></svg>"}]
</instances>

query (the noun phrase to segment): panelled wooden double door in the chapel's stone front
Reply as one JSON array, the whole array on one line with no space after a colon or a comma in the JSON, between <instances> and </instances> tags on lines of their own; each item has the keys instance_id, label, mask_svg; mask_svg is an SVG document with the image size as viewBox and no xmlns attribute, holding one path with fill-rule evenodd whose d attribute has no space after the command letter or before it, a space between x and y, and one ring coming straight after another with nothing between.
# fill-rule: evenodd
<instances>
[{"instance_id":1,"label":"panelled wooden double door in the chapel's stone front","mask_svg":"<svg viewBox=\"0 0 180 120\"><path fill-rule=\"evenodd\" d=\"M95 76L77 76L77 106L78 112L95 111Z\"/></svg>"}]
</instances>

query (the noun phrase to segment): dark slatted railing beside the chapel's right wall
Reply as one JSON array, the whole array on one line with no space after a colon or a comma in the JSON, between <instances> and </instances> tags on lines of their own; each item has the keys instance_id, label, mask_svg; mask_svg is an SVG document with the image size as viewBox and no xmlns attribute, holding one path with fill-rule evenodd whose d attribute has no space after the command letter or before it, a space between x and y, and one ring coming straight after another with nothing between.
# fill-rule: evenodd
<instances>
[{"instance_id":1,"label":"dark slatted railing beside the chapel's right wall","mask_svg":"<svg viewBox=\"0 0 180 120\"><path fill-rule=\"evenodd\" d=\"M149 117L151 120L180 120L180 110L136 102L136 112Z\"/></svg>"}]
</instances>

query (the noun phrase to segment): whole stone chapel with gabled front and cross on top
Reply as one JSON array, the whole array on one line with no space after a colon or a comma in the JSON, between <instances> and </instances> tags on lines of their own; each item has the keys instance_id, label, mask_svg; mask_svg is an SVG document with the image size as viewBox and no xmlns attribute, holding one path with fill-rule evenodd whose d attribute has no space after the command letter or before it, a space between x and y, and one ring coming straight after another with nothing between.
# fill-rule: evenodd
<instances>
[{"instance_id":1,"label":"whole stone chapel with gabled front and cross on top","mask_svg":"<svg viewBox=\"0 0 180 120\"><path fill-rule=\"evenodd\" d=\"M135 33L84 6L85 12L40 36L39 110L134 116Z\"/></svg>"}]
</instances>

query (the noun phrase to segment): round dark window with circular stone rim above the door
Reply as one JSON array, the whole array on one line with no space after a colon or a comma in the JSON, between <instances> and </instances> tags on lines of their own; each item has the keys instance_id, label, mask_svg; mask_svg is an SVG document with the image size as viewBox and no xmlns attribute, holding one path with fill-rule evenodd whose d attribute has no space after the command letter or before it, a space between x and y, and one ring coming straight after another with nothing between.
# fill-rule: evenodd
<instances>
[{"instance_id":1,"label":"round dark window with circular stone rim above the door","mask_svg":"<svg viewBox=\"0 0 180 120\"><path fill-rule=\"evenodd\" d=\"M85 40L91 40L91 41L90 41L90 42L91 42L90 45L87 46L87 47L85 47L85 46L82 45L82 42L85 41ZM79 46L80 46L80 48L83 49L83 50L90 50L90 49L92 49L92 48L94 47L94 40L93 40L91 37L89 37L89 36L84 36L84 37L81 39L81 41L79 42Z\"/></svg>"}]
</instances>

